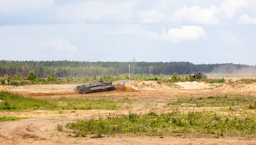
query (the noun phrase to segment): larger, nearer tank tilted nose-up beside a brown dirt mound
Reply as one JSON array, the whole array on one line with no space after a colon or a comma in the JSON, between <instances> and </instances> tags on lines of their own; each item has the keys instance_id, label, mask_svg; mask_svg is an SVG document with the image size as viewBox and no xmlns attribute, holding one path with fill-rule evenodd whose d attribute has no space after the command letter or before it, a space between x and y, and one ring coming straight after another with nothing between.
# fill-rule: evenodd
<instances>
[{"instance_id":1,"label":"larger, nearer tank tilted nose-up beside a brown dirt mound","mask_svg":"<svg viewBox=\"0 0 256 145\"><path fill-rule=\"evenodd\" d=\"M116 90L112 82L103 81L101 79L99 80L99 82L95 82L92 84L75 85L74 87L75 93L79 94L97 93L112 90Z\"/></svg>"}]
</instances>

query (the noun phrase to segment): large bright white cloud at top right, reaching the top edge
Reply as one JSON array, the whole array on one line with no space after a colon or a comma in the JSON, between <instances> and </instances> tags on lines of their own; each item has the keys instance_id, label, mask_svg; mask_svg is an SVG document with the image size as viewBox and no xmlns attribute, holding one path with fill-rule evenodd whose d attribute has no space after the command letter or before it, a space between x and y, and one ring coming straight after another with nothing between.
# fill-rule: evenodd
<instances>
[{"instance_id":1,"label":"large bright white cloud at top right, reaching the top edge","mask_svg":"<svg viewBox=\"0 0 256 145\"><path fill-rule=\"evenodd\" d=\"M198 5L183 6L170 17L172 22L190 24L220 24L219 17L232 18L239 8L249 5L249 0L227 0L221 6L201 8Z\"/></svg>"}]
</instances>

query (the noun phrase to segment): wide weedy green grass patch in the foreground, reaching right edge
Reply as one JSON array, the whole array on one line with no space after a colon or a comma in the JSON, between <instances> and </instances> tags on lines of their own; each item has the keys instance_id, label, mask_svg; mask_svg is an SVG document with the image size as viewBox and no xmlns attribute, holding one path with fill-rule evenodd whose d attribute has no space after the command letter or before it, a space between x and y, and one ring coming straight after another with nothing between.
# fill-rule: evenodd
<instances>
[{"instance_id":1,"label":"wide weedy green grass patch in the foreground, reaching right edge","mask_svg":"<svg viewBox=\"0 0 256 145\"><path fill-rule=\"evenodd\" d=\"M199 134L217 136L255 136L255 116L237 117L234 114L219 115L215 111L191 111L181 113L172 111L157 115L133 114L121 117L107 117L99 119L84 119L66 124L75 130L76 136L87 134L144 134L162 136L168 134Z\"/></svg>"}]
</instances>

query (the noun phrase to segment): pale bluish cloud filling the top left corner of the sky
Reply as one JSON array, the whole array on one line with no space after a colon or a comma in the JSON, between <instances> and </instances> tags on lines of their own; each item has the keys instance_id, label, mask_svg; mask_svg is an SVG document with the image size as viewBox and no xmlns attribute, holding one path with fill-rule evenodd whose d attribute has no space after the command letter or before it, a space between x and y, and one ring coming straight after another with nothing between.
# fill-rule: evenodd
<instances>
[{"instance_id":1,"label":"pale bluish cloud filling the top left corner of the sky","mask_svg":"<svg viewBox=\"0 0 256 145\"><path fill-rule=\"evenodd\" d=\"M0 14L2 16L13 16L21 14L30 14L32 11L38 11L44 8L50 8L54 5L54 0L11 0L0 1ZM1 16L0 15L0 16Z\"/></svg>"}]
</instances>

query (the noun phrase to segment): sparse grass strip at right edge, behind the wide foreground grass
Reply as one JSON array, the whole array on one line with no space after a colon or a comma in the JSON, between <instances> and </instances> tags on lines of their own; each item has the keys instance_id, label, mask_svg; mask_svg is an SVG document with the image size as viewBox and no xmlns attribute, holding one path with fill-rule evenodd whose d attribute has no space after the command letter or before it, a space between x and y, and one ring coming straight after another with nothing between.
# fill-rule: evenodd
<instances>
[{"instance_id":1,"label":"sparse grass strip at right edge, behind the wide foreground grass","mask_svg":"<svg viewBox=\"0 0 256 145\"><path fill-rule=\"evenodd\" d=\"M178 100L171 100L167 103L167 107L179 107L183 103L188 103L188 107L229 107L234 106L236 101L236 106L246 106L250 104L252 100L256 100L256 96L247 95L223 95L223 96L208 96L208 97L198 97L198 98L179 98Z\"/></svg>"}]
</instances>

